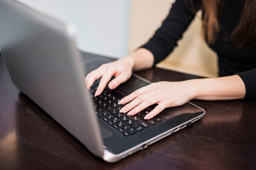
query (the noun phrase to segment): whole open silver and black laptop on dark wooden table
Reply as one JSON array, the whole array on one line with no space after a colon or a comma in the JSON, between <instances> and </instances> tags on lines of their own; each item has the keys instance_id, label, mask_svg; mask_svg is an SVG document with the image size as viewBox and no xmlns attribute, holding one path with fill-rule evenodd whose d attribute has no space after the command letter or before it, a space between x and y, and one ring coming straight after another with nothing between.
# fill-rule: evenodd
<instances>
[{"instance_id":1,"label":"whole open silver and black laptop on dark wooden table","mask_svg":"<svg viewBox=\"0 0 256 170\"><path fill-rule=\"evenodd\" d=\"M204 116L205 111L190 102L151 120L143 118L155 105L135 116L120 113L122 97L150 84L136 74L94 97L99 80L87 90L84 78L110 61L83 61L75 32L72 24L16 0L0 0L0 50L13 84L96 157L117 162Z\"/></svg>"}]
</instances>

